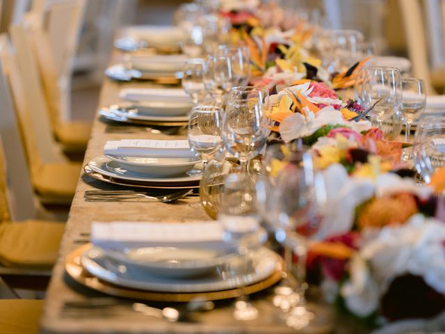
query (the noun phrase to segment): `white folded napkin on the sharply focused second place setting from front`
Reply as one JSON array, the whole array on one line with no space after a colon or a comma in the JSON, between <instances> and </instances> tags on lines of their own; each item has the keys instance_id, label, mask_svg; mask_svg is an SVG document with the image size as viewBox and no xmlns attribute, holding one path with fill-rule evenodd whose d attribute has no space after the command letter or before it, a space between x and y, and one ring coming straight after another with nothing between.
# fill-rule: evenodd
<instances>
[{"instance_id":1,"label":"white folded napkin on the sharply focused second place setting from front","mask_svg":"<svg viewBox=\"0 0 445 334\"><path fill-rule=\"evenodd\" d=\"M193 158L187 140L156 141L153 139L123 139L107 141L105 155L145 157L145 158Z\"/></svg>"}]
</instances>

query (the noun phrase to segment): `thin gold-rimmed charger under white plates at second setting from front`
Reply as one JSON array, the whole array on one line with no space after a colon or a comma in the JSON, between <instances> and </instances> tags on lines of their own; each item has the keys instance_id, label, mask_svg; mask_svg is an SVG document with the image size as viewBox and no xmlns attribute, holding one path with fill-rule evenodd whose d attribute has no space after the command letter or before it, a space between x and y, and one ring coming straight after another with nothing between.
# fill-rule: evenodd
<instances>
[{"instance_id":1,"label":"thin gold-rimmed charger under white plates at second setting from front","mask_svg":"<svg viewBox=\"0 0 445 334\"><path fill-rule=\"evenodd\" d=\"M110 177L106 175L102 175L100 173L96 173L94 170L86 164L83 166L83 170L85 173L92 177L93 179L107 182L111 184L118 184L120 186L137 186L140 188L155 188L155 189L195 189L200 187L199 181L193 182L181 182L181 183L156 183L156 182L136 182L131 180L122 180L117 177Z\"/></svg>"}]
</instances>

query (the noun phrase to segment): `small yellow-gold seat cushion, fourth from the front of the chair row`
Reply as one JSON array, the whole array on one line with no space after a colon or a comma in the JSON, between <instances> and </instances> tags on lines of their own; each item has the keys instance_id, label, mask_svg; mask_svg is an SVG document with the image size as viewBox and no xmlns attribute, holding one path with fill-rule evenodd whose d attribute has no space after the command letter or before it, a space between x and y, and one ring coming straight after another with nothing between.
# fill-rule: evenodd
<instances>
[{"instance_id":1,"label":"small yellow-gold seat cushion, fourth from the front of the chair row","mask_svg":"<svg viewBox=\"0 0 445 334\"><path fill-rule=\"evenodd\" d=\"M90 122L59 123L55 128L56 137L65 146L86 148L91 127Z\"/></svg>"}]
</instances>

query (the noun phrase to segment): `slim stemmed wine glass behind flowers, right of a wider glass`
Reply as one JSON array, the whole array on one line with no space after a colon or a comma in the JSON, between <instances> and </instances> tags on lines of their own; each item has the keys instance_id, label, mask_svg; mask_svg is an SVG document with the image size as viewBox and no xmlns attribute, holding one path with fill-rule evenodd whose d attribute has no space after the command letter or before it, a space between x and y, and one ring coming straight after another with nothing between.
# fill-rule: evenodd
<instances>
[{"instance_id":1,"label":"slim stemmed wine glass behind flowers, right of a wider glass","mask_svg":"<svg viewBox=\"0 0 445 334\"><path fill-rule=\"evenodd\" d=\"M425 81L416 78L402 78L402 102L401 113L405 122L405 142L410 142L411 124L418 120L425 110L426 89ZM410 150L403 150L403 161L411 157Z\"/></svg>"}]
</instances>

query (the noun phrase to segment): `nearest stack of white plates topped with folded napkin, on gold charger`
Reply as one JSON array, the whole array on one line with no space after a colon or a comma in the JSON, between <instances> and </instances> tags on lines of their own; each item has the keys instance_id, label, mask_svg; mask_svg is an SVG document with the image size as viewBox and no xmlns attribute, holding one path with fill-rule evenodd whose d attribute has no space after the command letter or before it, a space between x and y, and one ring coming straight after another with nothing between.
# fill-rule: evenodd
<instances>
[{"instance_id":1,"label":"nearest stack of white plates topped with folded napkin, on gold charger","mask_svg":"<svg viewBox=\"0 0 445 334\"><path fill-rule=\"evenodd\" d=\"M81 257L92 275L114 285L154 292L214 292L265 280L280 256L267 248L245 268L223 242L219 222L93 223L92 246ZM144 244L144 246L140 246ZM170 245L170 246L168 246Z\"/></svg>"}]
</instances>

